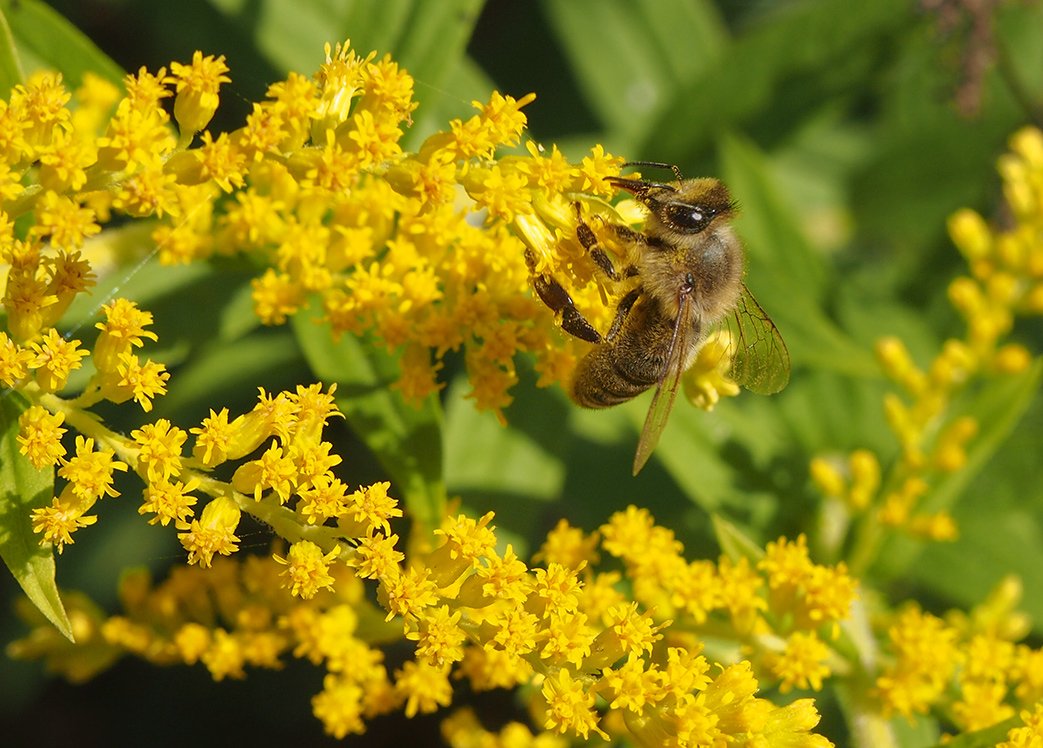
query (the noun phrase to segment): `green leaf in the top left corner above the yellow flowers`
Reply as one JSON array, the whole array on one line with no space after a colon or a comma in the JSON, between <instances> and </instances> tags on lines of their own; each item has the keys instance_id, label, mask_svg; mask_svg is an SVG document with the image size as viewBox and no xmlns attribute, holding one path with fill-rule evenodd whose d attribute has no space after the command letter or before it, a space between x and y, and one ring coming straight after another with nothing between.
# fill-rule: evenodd
<instances>
[{"instance_id":1,"label":"green leaf in the top left corner above the yellow flowers","mask_svg":"<svg viewBox=\"0 0 1043 748\"><path fill-rule=\"evenodd\" d=\"M40 0L4 3L3 15L10 27L17 56L26 70L57 70L69 88L79 86L83 73L88 72L121 85L123 69L78 28ZM9 63L0 70L7 65ZM0 80L0 86L8 82ZM7 98L9 88L0 90L3 98Z\"/></svg>"}]
</instances>

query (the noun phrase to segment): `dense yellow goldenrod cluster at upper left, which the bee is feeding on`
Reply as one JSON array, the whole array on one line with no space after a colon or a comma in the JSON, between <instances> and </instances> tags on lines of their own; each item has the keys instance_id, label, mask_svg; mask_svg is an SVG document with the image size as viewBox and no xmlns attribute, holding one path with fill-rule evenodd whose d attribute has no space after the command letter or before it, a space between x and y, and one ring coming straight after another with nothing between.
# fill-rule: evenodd
<instances>
[{"instance_id":1,"label":"dense yellow goldenrod cluster at upper left, which the bee is feeding on","mask_svg":"<svg viewBox=\"0 0 1043 748\"><path fill-rule=\"evenodd\" d=\"M122 98L90 75L73 96L60 76L41 73L0 102L0 259L10 266L0 381L34 372L53 392L78 367L86 353L51 329L93 285L80 249L92 237L104 245L96 235L115 214L160 219L152 239L165 263L250 256L266 268L253 282L266 323L317 294L336 335L372 333L401 354L397 386L411 400L441 386L450 351L464 352L478 407L498 413L517 353L535 354L543 384L567 376L577 343L532 297L518 237L563 237L578 258L573 203L608 194L604 177L622 160L597 147L573 166L530 143L526 155L493 161L498 147L518 144L522 107L534 99L499 93L406 152L412 78L346 44L326 48L314 77L269 87L243 127L197 138L225 73L223 57L197 52L169 73L128 76ZM179 135L164 107L171 96ZM26 215L31 228L16 232ZM126 346L99 360L105 396L131 391L147 409L163 392L162 367Z\"/></svg>"}]
</instances>

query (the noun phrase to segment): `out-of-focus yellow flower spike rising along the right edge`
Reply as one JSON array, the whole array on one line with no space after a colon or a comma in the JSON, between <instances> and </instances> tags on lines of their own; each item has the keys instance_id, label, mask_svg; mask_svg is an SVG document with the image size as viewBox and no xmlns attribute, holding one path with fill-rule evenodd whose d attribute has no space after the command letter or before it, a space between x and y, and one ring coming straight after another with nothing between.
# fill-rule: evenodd
<instances>
[{"instance_id":1,"label":"out-of-focus yellow flower spike rising along the right edge","mask_svg":"<svg viewBox=\"0 0 1043 748\"><path fill-rule=\"evenodd\" d=\"M852 512L872 510L874 522L884 527L935 540L954 538L956 527L944 510L920 510L921 500L932 480L967 463L967 447L979 428L953 401L976 379L1024 371L1032 354L1005 340L1017 316L1043 313L1043 132L1023 129L1011 139L1011 147L999 170L1015 224L993 230L966 209L949 220L949 234L971 271L949 285L949 299L966 321L966 336L946 340L926 369L914 362L898 338L877 344L884 373L904 393L903 399L890 392L883 402L899 459L886 475L876 455L866 450L846 459L819 457L811 462L811 477L827 497Z\"/></svg>"}]
</instances>

